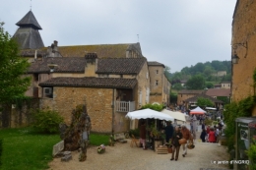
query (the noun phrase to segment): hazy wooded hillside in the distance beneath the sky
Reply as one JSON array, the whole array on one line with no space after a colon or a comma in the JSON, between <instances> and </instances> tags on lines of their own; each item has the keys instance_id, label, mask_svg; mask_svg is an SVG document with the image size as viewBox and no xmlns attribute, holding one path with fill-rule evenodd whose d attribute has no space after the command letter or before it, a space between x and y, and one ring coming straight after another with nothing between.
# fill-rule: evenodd
<instances>
[{"instance_id":1,"label":"hazy wooded hillside in the distance beneath the sky","mask_svg":"<svg viewBox=\"0 0 256 170\"><path fill-rule=\"evenodd\" d=\"M226 75L217 76L221 71L225 71ZM165 75L172 85L181 84L194 76L203 77L206 83L230 82L231 62L214 60L212 62L197 63L195 66L184 67L180 72L169 73L166 71Z\"/></svg>"}]
</instances>

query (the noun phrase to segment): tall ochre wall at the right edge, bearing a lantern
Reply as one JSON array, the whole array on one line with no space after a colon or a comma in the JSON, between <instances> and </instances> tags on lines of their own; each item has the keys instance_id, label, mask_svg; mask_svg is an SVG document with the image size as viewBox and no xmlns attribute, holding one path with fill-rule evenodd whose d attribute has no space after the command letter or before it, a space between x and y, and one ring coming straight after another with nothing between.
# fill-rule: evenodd
<instances>
[{"instance_id":1,"label":"tall ochre wall at the right edge, bearing a lantern","mask_svg":"<svg viewBox=\"0 0 256 170\"><path fill-rule=\"evenodd\" d=\"M237 0L232 23L233 48L236 48L238 64L232 65L231 100L239 101L252 95L253 71L256 67L256 2L252 0ZM247 48L237 43L246 43ZM234 50L232 50L232 55Z\"/></svg>"}]
</instances>

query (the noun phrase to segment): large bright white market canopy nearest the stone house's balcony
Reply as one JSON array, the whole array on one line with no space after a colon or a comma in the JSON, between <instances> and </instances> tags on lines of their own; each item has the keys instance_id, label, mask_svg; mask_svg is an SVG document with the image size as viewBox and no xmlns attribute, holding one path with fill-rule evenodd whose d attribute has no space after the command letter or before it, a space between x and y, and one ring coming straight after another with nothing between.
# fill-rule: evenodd
<instances>
[{"instance_id":1,"label":"large bright white market canopy nearest the stone house's balcony","mask_svg":"<svg viewBox=\"0 0 256 170\"><path fill-rule=\"evenodd\" d=\"M133 112L128 112L125 117L130 118L132 120L149 118L149 119L160 119L165 121L174 121L173 117L152 109L144 109L144 110L136 110Z\"/></svg>"}]
</instances>

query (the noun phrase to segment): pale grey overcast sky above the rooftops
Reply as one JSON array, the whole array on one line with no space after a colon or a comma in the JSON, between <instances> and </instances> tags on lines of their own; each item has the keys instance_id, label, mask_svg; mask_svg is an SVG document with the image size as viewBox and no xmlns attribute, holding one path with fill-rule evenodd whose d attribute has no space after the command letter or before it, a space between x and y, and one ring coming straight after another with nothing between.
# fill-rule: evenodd
<instances>
[{"instance_id":1,"label":"pale grey overcast sky above the rooftops","mask_svg":"<svg viewBox=\"0 0 256 170\"><path fill-rule=\"evenodd\" d=\"M141 44L148 61L180 71L230 60L236 0L32 0L43 43L59 46ZM0 22L13 35L31 0L2 0Z\"/></svg>"}]
</instances>

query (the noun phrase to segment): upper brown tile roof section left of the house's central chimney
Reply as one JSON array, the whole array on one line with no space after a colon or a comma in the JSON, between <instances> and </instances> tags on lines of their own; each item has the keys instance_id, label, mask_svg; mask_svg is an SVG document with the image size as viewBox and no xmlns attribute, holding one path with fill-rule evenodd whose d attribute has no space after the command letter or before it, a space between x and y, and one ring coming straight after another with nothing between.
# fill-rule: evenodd
<instances>
[{"instance_id":1,"label":"upper brown tile roof section left of the house's central chimney","mask_svg":"<svg viewBox=\"0 0 256 170\"><path fill-rule=\"evenodd\" d=\"M49 73L47 64L58 65L54 73L85 73L86 59L82 57L48 57L31 64L28 73Z\"/></svg>"}]
</instances>

